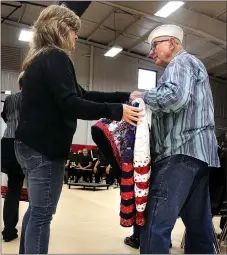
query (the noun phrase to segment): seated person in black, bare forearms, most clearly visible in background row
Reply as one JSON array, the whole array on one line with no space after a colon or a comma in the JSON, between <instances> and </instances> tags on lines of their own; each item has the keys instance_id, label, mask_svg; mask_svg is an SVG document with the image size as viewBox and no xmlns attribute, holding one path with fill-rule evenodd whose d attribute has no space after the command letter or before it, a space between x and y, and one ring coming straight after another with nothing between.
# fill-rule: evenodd
<instances>
[{"instance_id":1,"label":"seated person in black, bare forearms, most clearly visible in background row","mask_svg":"<svg viewBox=\"0 0 227 255\"><path fill-rule=\"evenodd\" d=\"M88 155L88 149L83 149L83 154L78 157L78 167L81 169L91 169L92 168L92 158ZM85 182L92 182L92 171L83 171L83 180Z\"/></svg>"}]
</instances>

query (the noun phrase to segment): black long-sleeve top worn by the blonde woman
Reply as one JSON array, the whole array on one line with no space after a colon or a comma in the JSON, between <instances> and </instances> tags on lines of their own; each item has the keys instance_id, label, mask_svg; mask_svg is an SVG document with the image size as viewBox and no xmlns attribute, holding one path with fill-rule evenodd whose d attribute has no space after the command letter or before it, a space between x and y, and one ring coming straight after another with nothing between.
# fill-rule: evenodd
<instances>
[{"instance_id":1,"label":"black long-sleeve top worn by the blonde woman","mask_svg":"<svg viewBox=\"0 0 227 255\"><path fill-rule=\"evenodd\" d=\"M16 138L49 159L66 159L77 119L122 118L127 92L85 91L68 55L51 49L27 67ZM114 102L114 103L111 103Z\"/></svg>"}]
</instances>

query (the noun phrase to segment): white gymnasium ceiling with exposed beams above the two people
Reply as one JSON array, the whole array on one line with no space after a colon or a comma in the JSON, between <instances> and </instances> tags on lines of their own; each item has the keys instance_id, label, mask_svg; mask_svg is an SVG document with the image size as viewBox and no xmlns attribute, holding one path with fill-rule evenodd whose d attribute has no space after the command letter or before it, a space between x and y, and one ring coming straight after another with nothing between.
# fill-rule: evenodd
<instances>
[{"instance_id":1,"label":"white gymnasium ceiling with exposed beams above the two people","mask_svg":"<svg viewBox=\"0 0 227 255\"><path fill-rule=\"evenodd\" d=\"M34 4L47 6L54 2L22 3L8 19L31 25L44 8ZM14 7L5 3L20 6L16 1L1 2L2 18L14 10ZM81 17L79 37L107 46L115 43L125 51L147 56L147 37L152 29L163 23L178 24L185 33L185 49L203 61L210 75L227 79L226 1L186 2L165 19L154 16L164 4L163 1L92 2Z\"/></svg>"}]
</instances>

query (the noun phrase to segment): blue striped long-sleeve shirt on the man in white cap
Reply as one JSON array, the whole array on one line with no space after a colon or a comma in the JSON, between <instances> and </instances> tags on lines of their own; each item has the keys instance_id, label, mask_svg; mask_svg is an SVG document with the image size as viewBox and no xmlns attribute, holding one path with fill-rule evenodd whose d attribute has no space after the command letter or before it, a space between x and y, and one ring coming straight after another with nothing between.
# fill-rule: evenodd
<instances>
[{"instance_id":1,"label":"blue striped long-sleeve shirt on the man in white cap","mask_svg":"<svg viewBox=\"0 0 227 255\"><path fill-rule=\"evenodd\" d=\"M152 110L156 161L184 154L219 167L214 105L208 73L200 60L180 51L157 87L143 93Z\"/></svg>"}]
</instances>

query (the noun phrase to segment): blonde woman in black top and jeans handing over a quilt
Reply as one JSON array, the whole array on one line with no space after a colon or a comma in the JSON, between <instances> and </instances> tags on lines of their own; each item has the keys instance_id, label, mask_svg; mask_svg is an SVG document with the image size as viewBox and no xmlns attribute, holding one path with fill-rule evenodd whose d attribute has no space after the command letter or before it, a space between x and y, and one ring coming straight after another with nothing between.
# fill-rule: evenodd
<instances>
[{"instance_id":1,"label":"blonde woman in black top and jeans handing over a quilt","mask_svg":"<svg viewBox=\"0 0 227 255\"><path fill-rule=\"evenodd\" d=\"M73 11L47 7L34 23L33 41L23 63L15 151L28 180L30 201L20 253L48 253L50 222L77 119L124 119L135 125L142 116L137 108L122 104L129 100L129 93L87 92L77 83L68 54L75 49L79 29L80 19Z\"/></svg>"}]
</instances>

